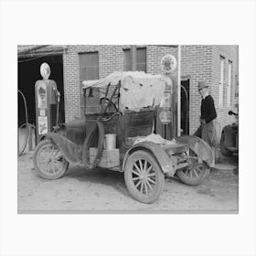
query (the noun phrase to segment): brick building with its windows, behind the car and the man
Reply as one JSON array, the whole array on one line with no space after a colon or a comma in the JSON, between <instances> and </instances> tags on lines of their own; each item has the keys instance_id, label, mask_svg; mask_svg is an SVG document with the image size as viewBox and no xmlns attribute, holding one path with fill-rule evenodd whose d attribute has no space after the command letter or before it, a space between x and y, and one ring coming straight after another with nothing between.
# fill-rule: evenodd
<instances>
[{"instance_id":1,"label":"brick building with its windows, behind the car and the man","mask_svg":"<svg viewBox=\"0 0 256 256\"><path fill-rule=\"evenodd\" d=\"M43 56L46 50L42 48L35 54ZM59 61L62 62L63 78L59 83L63 84L62 101L66 122L83 115L82 80L101 79L116 70L129 70L132 63L130 46L124 45L69 45L58 52L53 48L51 53L49 54L51 58L54 59L54 56L58 55ZM137 69L147 73L161 73L160 61L167 53L177 58L177 48L172 46L137 46ZM38 64L47 61L52 67L52 59L48 60L49 56L37 59ZM187 110L189 116L187 132L194 133L199 124L200 96L197 91L197 81L205 80L210 85L210 93L215 100L219 128L221 128L231 122L228 111L238 108L238 78L238 46L181 46L181 80L184 89L187 90L189 101L189 107L186 108L187 98L182 89L182 112ZM185 118L186 114L182 114L183 129Z\"/></svg>"}]
</instances>

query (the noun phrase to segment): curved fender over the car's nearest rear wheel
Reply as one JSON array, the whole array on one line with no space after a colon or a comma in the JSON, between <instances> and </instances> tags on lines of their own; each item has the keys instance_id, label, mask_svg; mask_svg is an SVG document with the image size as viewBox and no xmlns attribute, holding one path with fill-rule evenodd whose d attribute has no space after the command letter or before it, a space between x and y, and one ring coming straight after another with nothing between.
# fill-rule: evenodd
<instances>
[{"instance_id":1,"label":"curved fender over the car's nearest rear wheel","mask_svg":"<svg viewBox=\"0 0 256 256\"><path fill-rule=\"evenodd\" d=\"M168 174L169 176L174 176L176 170L175 170L175 164L172 159L169 157L169 155L166 154L165 149L160 144L155 144L153 142L142 142L139 144L134 144L125 154L123 158L123 167L122 171L124 172L125 163L133 152L137 150L145 150L147 152L150 152L152 155L155 156L156 161L160 165L162 171L164 174Z\"/></svg>"}]
</instances>

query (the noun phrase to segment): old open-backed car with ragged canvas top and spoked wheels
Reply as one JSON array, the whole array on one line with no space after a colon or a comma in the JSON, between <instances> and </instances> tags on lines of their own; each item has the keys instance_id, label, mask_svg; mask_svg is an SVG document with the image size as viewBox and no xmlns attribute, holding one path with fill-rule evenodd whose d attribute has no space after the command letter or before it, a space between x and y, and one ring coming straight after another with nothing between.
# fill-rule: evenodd
<instances>
[{"instance_id":1,"label":"old open-backed car with ragged canvas top and spoked wheels","mask_svg":"<svg viewBox=\"0 0 256 256\"><path fill-rule=\"evenodd\" d=\"M196 136L165 140L155 134L159 107L171 80L144 72L114 72L83 82L84 117L59 125L37 144L34 165L43 178L64 176L69 163L124 174L131 196L153 203L165 176L198 185L214 165L211 148Z\"/></svg>"}]
</instances>

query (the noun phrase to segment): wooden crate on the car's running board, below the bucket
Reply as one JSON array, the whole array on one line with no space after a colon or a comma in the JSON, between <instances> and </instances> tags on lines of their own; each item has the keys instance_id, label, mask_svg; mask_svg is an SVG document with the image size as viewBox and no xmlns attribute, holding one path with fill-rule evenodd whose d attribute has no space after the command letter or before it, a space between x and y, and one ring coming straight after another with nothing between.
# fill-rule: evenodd
<instances>
[{"instance_id":1,"label":"wooden crate on the car's running board, below the bucket","mask_svg":"<svg viewBox=\"0 0 256 256\"><path fill-rule=\"evenodd\" d=\"M95 158L97 148L96 147L91 147L89 150L90 154L90 163L92 163L93 159ZM101 155L101 160L99 162L100 167L102 168L112 168L120 165L120 154L119 154L119 149L111 149L111 150L106 150L103 149L102 155Z\"/></svg>"}]
</instances>

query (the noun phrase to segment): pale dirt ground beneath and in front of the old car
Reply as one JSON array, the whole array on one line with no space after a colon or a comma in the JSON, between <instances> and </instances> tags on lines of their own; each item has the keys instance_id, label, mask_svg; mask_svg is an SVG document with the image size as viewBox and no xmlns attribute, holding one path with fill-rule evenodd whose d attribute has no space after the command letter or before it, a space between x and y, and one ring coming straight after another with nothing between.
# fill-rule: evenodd
<instances>
[{"instance_id":1,"label":"pale dirt ground beneath and in front of the old car","mask_svg":"<svg viewBox=\"0 0 256 256\"><path fill-rule=\"evenodd\" d=\"M19 213L236 213L239 210L239 176L230 171L211 172L197 187L166 178L165 189L155 203L135 201L124 184L123 173L105 169L85 170L69 165L57 180L37 176L33 154L18 157L17 208Z\"/></svg>"}]
</instances>

